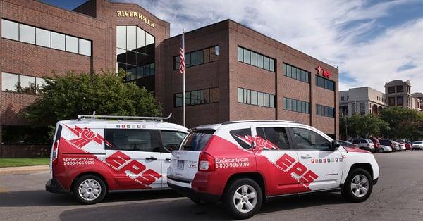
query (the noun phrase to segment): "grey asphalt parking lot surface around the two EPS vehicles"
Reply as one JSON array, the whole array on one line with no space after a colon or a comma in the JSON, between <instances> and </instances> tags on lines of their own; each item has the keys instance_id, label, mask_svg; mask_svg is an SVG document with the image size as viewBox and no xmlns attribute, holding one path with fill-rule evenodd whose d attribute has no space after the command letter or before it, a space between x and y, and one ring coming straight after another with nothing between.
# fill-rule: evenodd
<instances>
[{"instance_id":1,"label":"grey asphalt parking lot surface around the two EPS vehicles","mask_svg":"<svg viewBox=\"0 0 423 221\"><path fill-rule=\"evenodd\" d=\"M264 204L252 220L423 220L423 151L376 153L378 184L364 203L341 194L290 196ZM44 191L49 173L0 175L0 220L229 220L221 205L198 206L173 191L110 194L79 205Z\"/></svg>"}]
</instances>

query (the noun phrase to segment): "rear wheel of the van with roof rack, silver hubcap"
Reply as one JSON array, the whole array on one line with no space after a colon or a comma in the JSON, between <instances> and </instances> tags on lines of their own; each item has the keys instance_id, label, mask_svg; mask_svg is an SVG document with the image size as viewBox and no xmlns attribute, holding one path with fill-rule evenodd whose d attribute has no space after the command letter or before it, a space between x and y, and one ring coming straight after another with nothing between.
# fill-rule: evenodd
<instances>
[{"instance_id":1,"label":"rear wheel of the van with roof rack, silver hubcap","mask_svg":"<svg viewBox=\"0 0 423 221\"><path fill-rule=\"evenodd\" d=\"M79 177L73 185L73 196L83 204L95 204L106 196L106 184L95 175Z\"/></svg>"}]
</instances>

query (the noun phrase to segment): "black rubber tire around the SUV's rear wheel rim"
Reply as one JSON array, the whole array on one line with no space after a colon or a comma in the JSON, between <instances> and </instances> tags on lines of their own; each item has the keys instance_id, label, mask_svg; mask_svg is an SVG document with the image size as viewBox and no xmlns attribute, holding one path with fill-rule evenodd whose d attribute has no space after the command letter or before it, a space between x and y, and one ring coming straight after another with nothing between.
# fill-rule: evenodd
<instances>
[{"instance_id":1,"label":"black rubber tire around the SUV's rear wheel rim","mask_svg":"<svg viewBox=\"0 0 423 221\"><path fill-rule=\"evenodd\" d=\"M254 201L252 198L246 198L247 195L249 195L248 191L246 195L241 194L244 197L243 200L235 200L235 192L237 190L239 191L239 189L243 192L243 189L241 188L243 186L246 186L248 188L248 191L251 190L250 188L255 191L257 195L255 198L256 201ZM252 191L250 191L249 193L251 194ZM250 211L241 212L235 206L236 201L244 205L241 206L241 210L243 210L243 208L245 208L245 210L248 210L247 206L245 205L247 203L250 203L252 205L255 204L255 206L253 206ZM246 202L244 203L244 201ZM262 188L259 186L259 184L257 184L257 182L249 178L235 179L233 182L231 182L222 199L223 206L226 208L226 210L228 210L228 213L231 214L235 219L247 219L252 217L260 210L260 208L262 207L262 202Z\"/></svg>"}]
</instances>

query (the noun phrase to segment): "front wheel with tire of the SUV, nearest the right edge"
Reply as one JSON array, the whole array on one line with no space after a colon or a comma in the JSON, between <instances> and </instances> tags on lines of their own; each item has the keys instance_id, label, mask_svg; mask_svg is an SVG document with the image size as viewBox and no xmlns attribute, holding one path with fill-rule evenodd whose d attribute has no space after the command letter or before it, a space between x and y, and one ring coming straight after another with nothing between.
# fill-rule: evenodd
<instances>
[{"instance_id":1,"label":"front wheel with tire of the SUV, nearest the right edge","mask_svg":"<svg viewBox=\"0 0 423 221\"><path fill-rule=\"evenodd\" d=\"M373 179L369 172L361 168L350 172L343 187L342 195L348 201L358 203L367 200L372 194Z\"/></svg>"}]
</instances>

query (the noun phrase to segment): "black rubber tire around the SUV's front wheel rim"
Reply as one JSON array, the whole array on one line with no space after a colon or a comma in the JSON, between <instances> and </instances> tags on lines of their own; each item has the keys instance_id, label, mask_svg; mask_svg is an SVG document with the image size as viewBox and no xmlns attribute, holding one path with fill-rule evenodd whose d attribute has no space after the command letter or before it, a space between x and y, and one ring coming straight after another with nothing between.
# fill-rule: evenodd
<instances>
[{"instance_id":1,"label":"black rubber tire around the SUV's front wheel rim","mask_svg":"<svg viewBox=\"0 0 423 221\"><path fill-rule=\"evenodd\" d=\"M353 193L353 190L351 188L351 185L353 184L353 179L355 179L355 177L359 175L366 177L368 182L367 193L364 194L363 196L360 196L360 192L361 192L360 190L358 191L359 196L356 196ZM356 168L348 174L348 177L345 180L345 184L343 187L342 196L345 197L350 202L359 203L359 202L367 200L370 194L372 194L372 190L373 190L373 179L370 176L369 172L367 172L367 170L364 170L362 168Z\"/></svg>"}]
</instances>

